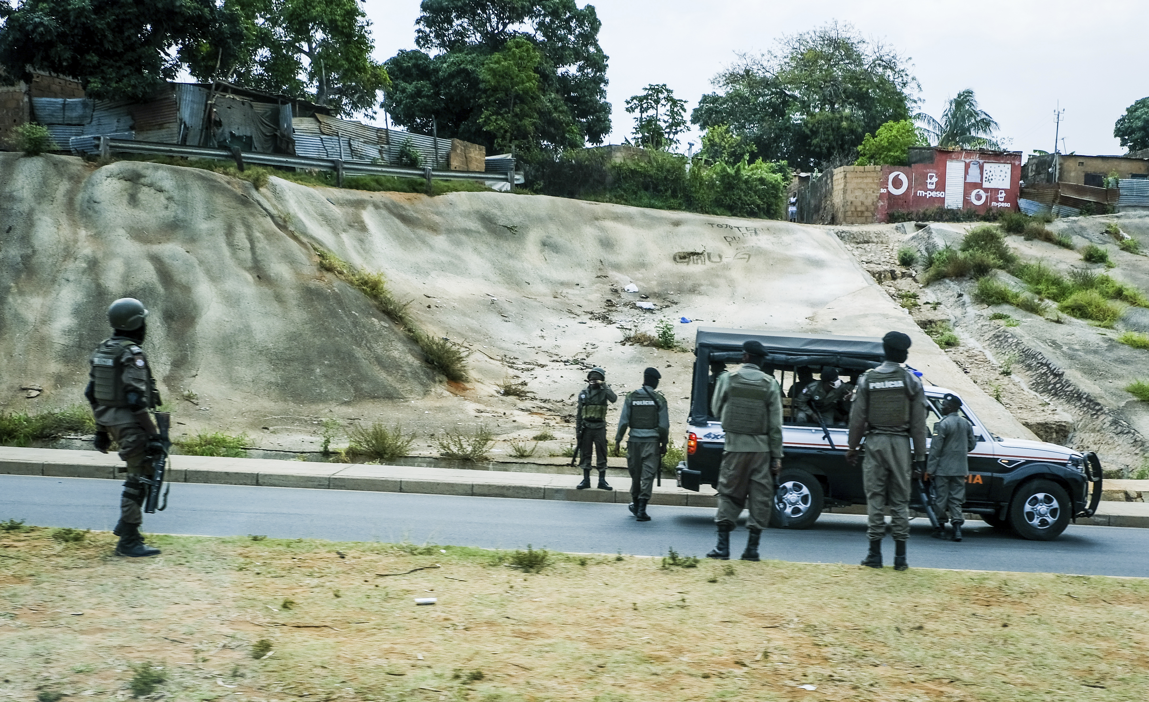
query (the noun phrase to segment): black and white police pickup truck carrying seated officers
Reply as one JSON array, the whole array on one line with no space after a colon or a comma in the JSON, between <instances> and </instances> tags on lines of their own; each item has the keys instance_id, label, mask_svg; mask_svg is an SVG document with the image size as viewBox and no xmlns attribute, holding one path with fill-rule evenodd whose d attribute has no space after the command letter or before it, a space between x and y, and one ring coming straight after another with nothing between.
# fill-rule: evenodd
<instances>
[{"instance_id":1,"label":"black and white police pickup truck carrying seated officers","mask_svg":"<svg viewBox=\"0 0 1149 702\"><path fill-rule=\"evenodd\" d=\"M787 398L802 389L800 378L809 380L823 367L836 369L842 381L856 380L865 370L878 367L884 357L881 339L861 337L699 329L686 460L678 464L678 485L697 491L702 484L718 484L725 433L718 418L710 414L710 396L715 379L726 367L731 370L738 367L742 342L750 339L757 339L769 353L765 370L773 370L785 398L786 457L778 477L771 525L807 529L827 507L865 504L861 462L857 466L846 463L846 416L835 412L823 415L820 423L797 423L796 407L792 407L796 399ZM788 392L795 384L795 393ZM941 419L941 398L953 391L930 385L926 378L923 385L927 401L926 435L932 437ZM973 425L978 440L970 452L966 512L979 515L994 527L1012 527L1020 537L1039 541L1057 538L1071 519L1093 516L1102 486L1101 462L1095 453L1082 454L1042 441L1002 439L990 433L967 406L959 411ZM925 500L915 499L911 507L932 514L930 492L927 483Z\"/></svg>"}]
</instances>

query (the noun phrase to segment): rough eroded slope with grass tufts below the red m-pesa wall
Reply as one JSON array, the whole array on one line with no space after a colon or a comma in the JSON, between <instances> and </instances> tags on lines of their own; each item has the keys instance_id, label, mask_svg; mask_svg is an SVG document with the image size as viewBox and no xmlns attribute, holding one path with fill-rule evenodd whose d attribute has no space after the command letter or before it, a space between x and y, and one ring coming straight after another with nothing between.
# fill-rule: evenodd
<instances>
[{"instance_id":1,"label":"rough eroded slope with grass tufts below the red m-pesa wall","mask_svg":"<svg viewBox=\"0 0 1149 702\"><path fill-rule=\"evenodd\" d=\"M1149 216L1116 215L1058 219L1055 233L1071 237L1072 249L1023 237L1008 237L1023 261L1040 261L1067 275L1073 270L1106 273L1149 291L1149 257L1119 249L1105 226L1116 222L1149 249ZM987 306L972 294L971 279L920 284L925 254L957 246L974 225L901 224L839 227L838 236L879 285L910 310L924 329L953 325L961 344L946 350L987 394L1047 441L1096 450L1111 476L1128 477L1149 465L1149 403L1125 391L1149 377L1149 352L1117 341L1126 330L1149 330L1149 310L1128 307L1113 329L1098 326L1051 304L1044 316L1010 304ZM1112 262L1087 263L1082 247L1106 248ZM897 263L897 250L912 248L918 263ZM1012 280L1020 285L1020 281ZM995 318L996 317L996 318Z\"/></svg>"}]
</instances>

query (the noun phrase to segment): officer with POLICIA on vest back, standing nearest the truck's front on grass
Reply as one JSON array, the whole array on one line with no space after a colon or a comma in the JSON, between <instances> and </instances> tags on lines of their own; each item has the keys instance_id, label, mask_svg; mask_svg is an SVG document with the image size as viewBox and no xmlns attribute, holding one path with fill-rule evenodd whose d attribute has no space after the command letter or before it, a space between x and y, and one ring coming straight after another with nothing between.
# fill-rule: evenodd
<instances>
[{"instance_id":1,"label":"officer with POLICIA on vest back, standing nearest the truck's front on grass","mask_svg":"<svg viewBox=\"0 0 1149 702\"><path fill-rule=\"evenodd\" d=\"M862 565L881 568L881 540L886 535L886 508L894 532L894 570L905 570L905 540L910 538L910 439L913 460L926 458L926 400L921 380L902 367L910 338L889 332L881 339L885 362L859 379L850 407L849 448L846 462L856 465L858 445L865 437L862 484L870 525L870 551Z\"/></svg>"}]
</instances>

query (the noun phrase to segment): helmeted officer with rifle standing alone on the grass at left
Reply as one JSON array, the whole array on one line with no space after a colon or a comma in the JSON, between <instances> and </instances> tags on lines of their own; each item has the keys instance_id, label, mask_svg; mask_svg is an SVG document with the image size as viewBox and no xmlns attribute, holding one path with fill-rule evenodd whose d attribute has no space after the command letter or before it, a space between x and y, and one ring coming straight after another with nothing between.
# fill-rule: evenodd
<instances>
[{"instance_id":1,"label":"helmeted officer with rifle standing alone on the grass at left","mask_svg":"<svg viewBox=\"0 0 1149 702\"><path fill-rule=\"evenodd\" d=\"M119 537L116 555L155 556L160 549L144 543L144 497L147 486L139 477L147 475L151 458L163 450L149 409L161 404L155 378L140 345L147 331L147 310L134 298L121 298L108 307L108 323L114 333L88 358L88 383L84 391L95 415L95 448L108 453L111 440L128 472L119 497L119 522L113 533Z\"/></svg>"}]
</instances>

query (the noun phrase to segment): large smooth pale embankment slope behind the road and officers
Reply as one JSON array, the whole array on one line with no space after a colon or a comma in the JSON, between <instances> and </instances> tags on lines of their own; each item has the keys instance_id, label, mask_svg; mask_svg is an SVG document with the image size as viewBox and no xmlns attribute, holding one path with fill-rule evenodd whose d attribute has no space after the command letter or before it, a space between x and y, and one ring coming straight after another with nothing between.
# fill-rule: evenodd
<instances>
[{"instance_id":1,"label":"large smooth pale embankment slope behind the road and officers","mask_svg":"<svg viewBox=\"0 0 1149 702\"><path fill-rule=\"evenodd\" d=\"M680 435L693 357L620 344L660 319L687 347L700 324L905 331L930 379L962 392L997 433L1032 435L830 229L501 193L276 178L256 190L196 169L16 154L0 155L0 202L11 281L0 298L2 409L82 401L105 308L131 295L152 310L146 346L177 431L247 431L265 448L316 448L326 418L398 422L424 438L479 424L504 438L569 433L563 418L594 365L622 391L656 365ZM421 329L470 353L471 380L437 377L386 315L321 269L316 248L381 272ZM529 395L501 395L507 381ZM25 399L24 385L44 389Z\"/></svg>"}]
</instances>

